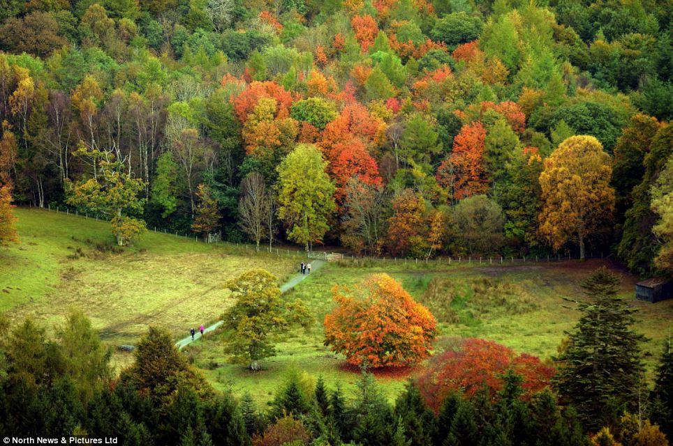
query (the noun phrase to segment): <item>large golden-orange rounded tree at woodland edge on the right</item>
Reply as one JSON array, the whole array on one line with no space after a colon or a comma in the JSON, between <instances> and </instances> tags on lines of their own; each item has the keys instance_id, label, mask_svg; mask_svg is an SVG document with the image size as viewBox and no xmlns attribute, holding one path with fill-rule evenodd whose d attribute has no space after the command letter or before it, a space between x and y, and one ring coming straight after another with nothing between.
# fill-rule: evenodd
<instances>
[{"instance_id":1,"label":"large golden-orange rounded tree at woodland edge on the right","mask_svg":"<svg viewBox=\"0 0 673 446\"><path fill-rule=\"evenodd\" d=\"M570 137L545 160L539 230L554 249L575 240L584 259L586 238L605 229L614 211L611 176L610 155L594 137Z\"/></svg>"}]
</instances>

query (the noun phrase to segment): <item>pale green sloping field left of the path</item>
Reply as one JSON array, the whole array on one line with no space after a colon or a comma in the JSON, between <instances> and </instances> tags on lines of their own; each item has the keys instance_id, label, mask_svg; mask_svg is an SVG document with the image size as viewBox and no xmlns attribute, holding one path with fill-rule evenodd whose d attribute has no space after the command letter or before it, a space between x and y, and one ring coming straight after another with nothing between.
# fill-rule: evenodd
<instances>
[{"instance_id":1,"label":"pale green sloping field left of the path","mask_svg":"<svg viewBox=\"0 0 673 446\"><path fill-rule=\"evenodd\" d=\"M184 337L191 326L223 313L226 280L266 268L283 282L296 263L154 232L115 253L108 222L46 210L15 212L20 243L0 249L0 312L13 322L33 316L52 327L79 307L112 346L133 344L150 324Z\"/></svg>"}]
</instances>

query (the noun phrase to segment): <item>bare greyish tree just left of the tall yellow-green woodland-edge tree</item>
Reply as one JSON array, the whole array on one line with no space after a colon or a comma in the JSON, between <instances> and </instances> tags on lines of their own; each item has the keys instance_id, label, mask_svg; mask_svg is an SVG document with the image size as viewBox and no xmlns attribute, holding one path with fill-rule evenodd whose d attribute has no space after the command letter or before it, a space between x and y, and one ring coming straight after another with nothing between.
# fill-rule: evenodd
<instances>
[{"instance_id":1,"label":"bare greyish tree just left of the tall yellow-green woodland-edge tree","mask_svg":"<svg viewBox=\"0 0 673 446\"><path fill-rule=\"evenodd\" d=\"M268 238L271 247L276 231L276 203L264 177L258 172L248 174L241 182L241 194L238 203L241 229L255 240L258 251L262 238Z\"/></svg>"}]
</instances>

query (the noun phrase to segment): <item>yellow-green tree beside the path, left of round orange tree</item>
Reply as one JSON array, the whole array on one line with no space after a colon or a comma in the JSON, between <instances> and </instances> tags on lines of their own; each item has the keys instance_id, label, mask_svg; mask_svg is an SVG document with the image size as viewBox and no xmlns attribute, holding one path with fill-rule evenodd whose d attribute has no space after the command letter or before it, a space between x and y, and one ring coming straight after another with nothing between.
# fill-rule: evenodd
<instances>
[{"instance_id":1,"label":"yellow-green tree beside the path, left of round orange tree","mask_svg":"<svg viewBox=\"0 0 673 446\"><path fill-rule=\"evenodd\" d=\"M225 351L234 360L260 370L259 361L275 355L273 336L299 324L309 328L313 318L301 300L283 302L277 279L266 270L251 270L225 284L236 302L224 314Z\"/></svg>"}]
</instances>

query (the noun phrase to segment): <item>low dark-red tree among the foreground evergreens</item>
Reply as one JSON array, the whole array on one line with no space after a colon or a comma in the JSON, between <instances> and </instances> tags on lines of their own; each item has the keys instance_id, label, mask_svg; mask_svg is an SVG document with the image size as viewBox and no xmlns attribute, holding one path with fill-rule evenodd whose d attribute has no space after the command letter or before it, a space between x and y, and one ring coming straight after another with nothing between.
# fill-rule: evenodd
<instances>
[{"instance_id":1,"label":"low dark-red tree among the foreground evergreens","mask_svg":"<svg viewBox=\"0 0 673 446\"><path fill-rule=\"evenodd\" d=\"M524 399L547 387L555 373L538 357L526 353L517 356L511 348L494 341L466 338L433 357L417 378L417 385L428 406L438 411L444 399L454 392L469 398L486 388L491 397L496 397L510 368L524 378Z\"/></svg>"}]
</instances>

